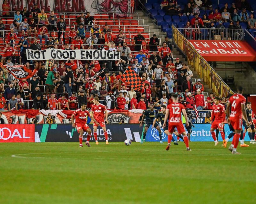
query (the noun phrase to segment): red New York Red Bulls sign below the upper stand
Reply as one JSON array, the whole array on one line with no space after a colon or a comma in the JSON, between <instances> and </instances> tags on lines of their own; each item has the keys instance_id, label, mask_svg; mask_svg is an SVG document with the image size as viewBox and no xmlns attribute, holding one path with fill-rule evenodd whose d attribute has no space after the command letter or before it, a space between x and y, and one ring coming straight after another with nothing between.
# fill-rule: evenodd
<instances>
[{"instance_id":1,"label":"red New York Red Bulls sign below the upper stand","mask_svg":"<svg viewBox=\"0 0 256 204\"><path fill-rule=\"evenodd\" d=\"M189 40L193 47L210 62L254 62L256 52L245 41Z\"/></svg>"}]
</instances>

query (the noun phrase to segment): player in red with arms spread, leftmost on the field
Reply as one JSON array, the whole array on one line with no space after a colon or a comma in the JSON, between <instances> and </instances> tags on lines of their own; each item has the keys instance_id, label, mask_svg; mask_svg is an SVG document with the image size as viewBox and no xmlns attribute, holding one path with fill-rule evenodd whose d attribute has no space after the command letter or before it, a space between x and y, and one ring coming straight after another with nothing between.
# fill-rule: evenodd
<instances>
[{"instance_id":1,"label":"player in red with arms spread, leftmost on the field","mask_svg":"<svg viewBox=\"0 0 256 204\"><path fill-rule=\"evenodd\" d=\"M89 113L89 111L86 110L86 103L81 103L81 108L74 111L74 113L71 115L71 122L72 126L77 129L77 132L79 133L79 147L83 147L82 141L83 141L83 134L84 131L86 131L87 134L87 140L85 144L88 147L91 147L89 141L92 136L92 130L91 128L86 124L87 122L87 116L92 119L92 121L99 125L99 123L93 118L93 116ZM76 118L76 124L74 123L74 117Z\"/></svg>"}]
</instances>

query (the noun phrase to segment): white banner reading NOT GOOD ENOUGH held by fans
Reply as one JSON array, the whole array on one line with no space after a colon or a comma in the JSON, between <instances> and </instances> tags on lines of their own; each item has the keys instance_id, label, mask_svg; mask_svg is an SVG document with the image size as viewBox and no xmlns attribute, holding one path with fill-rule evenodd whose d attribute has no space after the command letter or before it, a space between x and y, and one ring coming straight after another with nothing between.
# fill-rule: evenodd
<instances>
[{"instance_id":1,"label":"white banner reading NOT GOOD ENOUGH held by fans","mask_svg":"<svg viewBox=\"0 0 256 204\"><path fill-rule=\"evenodd\" d=\"M119 60L120 52L107 50L60 50L45 49L31 50L27 49L28 60Z\"/></svg>"}]
</instances>

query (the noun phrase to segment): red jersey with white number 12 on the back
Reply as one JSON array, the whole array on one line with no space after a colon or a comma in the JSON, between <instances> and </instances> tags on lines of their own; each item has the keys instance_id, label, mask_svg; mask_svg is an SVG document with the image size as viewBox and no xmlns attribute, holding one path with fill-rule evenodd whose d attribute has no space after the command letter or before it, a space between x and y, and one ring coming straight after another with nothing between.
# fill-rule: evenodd
<instances>
[{"instance_id":1,"label":"red jersey with white number 12 on the back","mask_svg":"<svg viewBox=\"0 0 256 204\"><path fill-rule=\"evenodd\" d=\"M181 111L184 109L185 107L178 103L178 102L172 102L171 104L169 104L167 106L166 109L169 109L169 124L170 125L175 125L175 124L182 124L182 120L181 120Z\"/></svg>"}]
</instances>

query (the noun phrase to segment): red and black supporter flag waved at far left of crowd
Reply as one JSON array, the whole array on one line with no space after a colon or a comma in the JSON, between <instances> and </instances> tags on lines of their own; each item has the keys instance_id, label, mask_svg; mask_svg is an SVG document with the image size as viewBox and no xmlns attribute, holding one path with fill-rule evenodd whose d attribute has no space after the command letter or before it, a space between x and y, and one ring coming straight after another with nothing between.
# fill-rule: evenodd
<instances>
[{"instance_id":1,"label":"red and black supporter flag waved at far left of crowd","mask_svg":"<svg viewBox=\"0 0 256 204\"><path fill-rule=\"evenodd\" d=\"M32 77L36 73L36 69L33 71L28 69L25 65L15 65L15 66L7 66L0 64L0 67L2 69L6 69L8 72L10 72L13 77L15 77L18 80L21 79L28 79Z\"/></svg>"}]
</instances>

